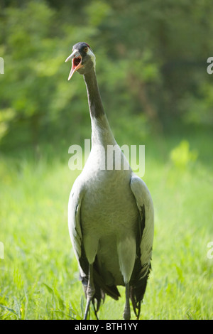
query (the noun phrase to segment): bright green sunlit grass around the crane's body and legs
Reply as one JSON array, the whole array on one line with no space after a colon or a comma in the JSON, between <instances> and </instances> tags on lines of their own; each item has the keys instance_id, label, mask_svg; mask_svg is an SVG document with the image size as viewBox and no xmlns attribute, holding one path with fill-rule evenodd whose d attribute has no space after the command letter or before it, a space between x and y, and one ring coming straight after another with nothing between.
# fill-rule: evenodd
<instances>
[{"instance_id":1,"label":"bright green sunlit grass around the crane's body and legs","mask_svg":"<svg viewBox=\"0 0 213 334\"><path fill-rule=\"evenodd\" d=\"M198 149L197 161L176 166L169 151L180 141L171 143L163 142L165 159L146 146L144 180L155 206L155 239L141 318L212 319L212 161L204 163ZM1 319L82 318L84 293L67 229L77 173L67 162L1 156ZM119 290L120 300L107 296L99 318L122 318L124 288Z\"/></svg>"}]
</instances>

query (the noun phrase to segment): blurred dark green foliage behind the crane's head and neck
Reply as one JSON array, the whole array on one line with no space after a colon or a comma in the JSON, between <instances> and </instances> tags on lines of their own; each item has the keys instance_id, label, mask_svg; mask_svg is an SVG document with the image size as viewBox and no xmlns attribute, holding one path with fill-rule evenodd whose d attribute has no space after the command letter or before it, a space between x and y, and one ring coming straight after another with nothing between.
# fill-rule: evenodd
<instances>
[{"instance_id":1,"label":"blurred dark green foliage behind the crane's head and neck","mask_svg":"<svg viewBox=\"0 0 213 334\"><path fill-rule=\"evenodd\" d=\"M213 125L211 1L0 4L2 150L89 138L84 82L77 74L67 82L65 59L78 41L97 56L104 107L120 138L141 141L174 126Z\"/></svg>"}]
</instances>

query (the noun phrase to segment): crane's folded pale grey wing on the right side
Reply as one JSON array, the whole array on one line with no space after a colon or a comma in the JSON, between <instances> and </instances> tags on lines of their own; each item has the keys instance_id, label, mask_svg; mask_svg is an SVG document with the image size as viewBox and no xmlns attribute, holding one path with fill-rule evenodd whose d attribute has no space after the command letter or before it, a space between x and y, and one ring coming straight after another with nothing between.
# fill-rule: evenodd
<instances>
[{"instance_id":1,"label":"crane's folded pale grey wing on the right side","mask_svg":"<svg viewBox=\"0 0 213 334\"><path fill-rule=\"evenodd\" d=\"M146 183L144 183L141 178L132 174L131 191L136 198L136 203L138 205L138 210L141 216L141 266L143 271L141 274L145 276L150 268L152 249L153 249L153 235L154 235L154 209L153 200L151 198L151 193L149 192ZM142 278L142 277L141 277Z\"/></svg>"}]
</instances>

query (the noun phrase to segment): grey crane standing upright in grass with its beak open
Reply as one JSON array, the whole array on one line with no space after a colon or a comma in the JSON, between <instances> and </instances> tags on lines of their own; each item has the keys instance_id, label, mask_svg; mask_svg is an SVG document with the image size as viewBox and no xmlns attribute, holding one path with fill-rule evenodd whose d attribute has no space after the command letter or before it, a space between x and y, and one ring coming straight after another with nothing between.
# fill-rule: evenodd
<instances>
[{"instance_id":1,"label":"grey crane standing upright in grass with its beak open","mask_svg":"<svg viewBox=\"0 0 213 334\"><path fill-rule=\"evenodd\" d=\"M118 300L116 286L125 286L124 319L131 318L130 298L139 318L151 270L153 201L146 183L133 173L111 133L99 94L92 48L77 43L68 60L72 60L68 80L76 71L84 77L92 124L92 148L68 203L70 238L87 298L84 319L91 302L97 317L106 293ZM121 168L107 168L109 146L120 153L113 156L113 162L115 165L120 158Z\"/></svg>"}]
</instances>

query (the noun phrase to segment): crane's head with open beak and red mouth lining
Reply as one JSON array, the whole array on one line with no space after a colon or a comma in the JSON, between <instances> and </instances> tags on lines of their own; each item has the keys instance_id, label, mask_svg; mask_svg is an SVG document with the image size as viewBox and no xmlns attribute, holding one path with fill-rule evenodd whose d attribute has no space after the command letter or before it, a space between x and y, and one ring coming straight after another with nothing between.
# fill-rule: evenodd
<instances>
[{"instance_id":1,"label":"crane's head with open beak and red mouth lining","mask_svg":"<svg viewBox=\"0 0 213 334\"><path fill-rule=\"evenodd\" d=\"M73 45L72 53L65 62L68 60L72 60L72 68L68 80L70 80L75 71L80 74L87 74L95 67L95 55L92 52L92 48L84 42Z\"/></svg>"}]
</instances>

